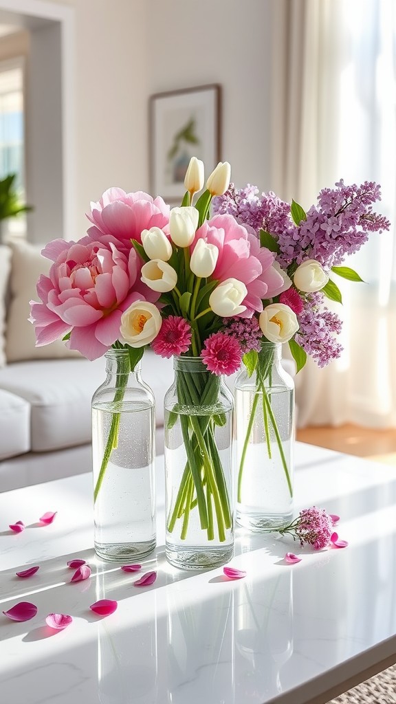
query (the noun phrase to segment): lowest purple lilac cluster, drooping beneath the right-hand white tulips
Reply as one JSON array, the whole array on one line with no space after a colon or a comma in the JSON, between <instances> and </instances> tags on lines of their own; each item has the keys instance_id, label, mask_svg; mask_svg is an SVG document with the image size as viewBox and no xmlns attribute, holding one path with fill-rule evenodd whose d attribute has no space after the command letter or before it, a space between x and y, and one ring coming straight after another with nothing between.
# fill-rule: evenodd
<instances>
[{"instance_id":1,"label":"lowest purple lilac cluster, drooping beneath the right-hand white tulips","mask_svg":"<svg viewBox=\"0 0 396 704\"><path fill-rule=\"evenodd\" d=\"M323 294L309 294L304 301L304 310L298 316L299 331L295 341L312 357L318 367L326 367L338 359L342 346L334 339L340 334L342 322L336 313L323 306Z\"/></svg>"}]
</instances>

